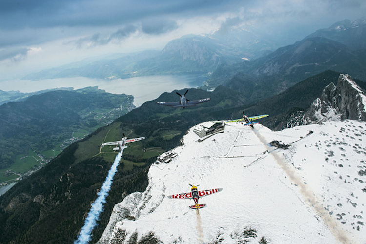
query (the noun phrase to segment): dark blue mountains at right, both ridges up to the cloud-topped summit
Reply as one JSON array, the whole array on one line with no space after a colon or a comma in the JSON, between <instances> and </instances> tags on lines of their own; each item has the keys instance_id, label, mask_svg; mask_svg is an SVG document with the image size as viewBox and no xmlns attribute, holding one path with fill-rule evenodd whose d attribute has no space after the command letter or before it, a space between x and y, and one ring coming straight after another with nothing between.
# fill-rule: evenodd
<instances>
[{"instance_id":1,"label":"dark blue mountains at right, both ridges up to the cloud-topped summit","mask_svg":"<svg viewBox=\"0 0 366 244\"><path fill-rule=\"evenodd\" d=\"M232 82L247 86L250 80L259 85L257 89L270 86L278 93L328 69L365 81L365 30L366 18L344 20L256 60L221 65L205 85L208 89Z\"/></svg>"}]
</instances>

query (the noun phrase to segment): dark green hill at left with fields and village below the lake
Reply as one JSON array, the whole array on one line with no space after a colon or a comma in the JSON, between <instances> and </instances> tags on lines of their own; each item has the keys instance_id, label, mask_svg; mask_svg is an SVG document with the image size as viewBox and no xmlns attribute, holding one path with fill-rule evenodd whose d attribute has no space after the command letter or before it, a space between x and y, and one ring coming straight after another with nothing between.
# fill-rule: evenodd
<instances>
[{"instance_id":1,"label":"dark green hill at left with fields and village below the lake","mask_svg":"<svg viewBox=\"0 0 366 244\"><path fill-rule=\"evenodd\" d=\"M47 154L44 156L47 159L51 154L54 157L52 151L45 151L60 151L73 140L112 122L132 110L132 102L132 96L89 87L50 91L28 97L23 102L3 104L0 106L0 168L11 166L19 155L23 157L29 150Z\"/></svg>"}]
</instances>

